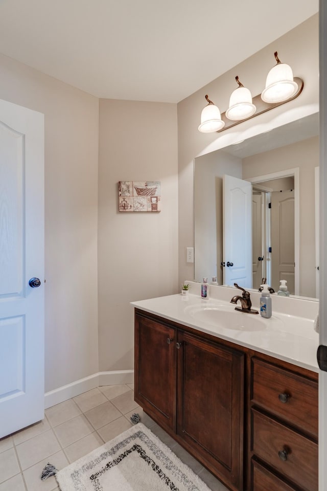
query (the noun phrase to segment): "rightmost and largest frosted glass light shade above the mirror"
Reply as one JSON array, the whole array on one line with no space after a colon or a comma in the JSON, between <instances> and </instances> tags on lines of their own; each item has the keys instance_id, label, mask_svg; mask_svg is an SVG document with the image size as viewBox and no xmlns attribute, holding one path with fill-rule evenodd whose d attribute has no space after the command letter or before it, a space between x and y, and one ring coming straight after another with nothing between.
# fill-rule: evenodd
<instances>
[{"instance_id":1,"label":"rightmost and largest frosted glass light shade above the mirror","mask_svg":"<svg viewBox=\"0 0 327 491\"><path fill-rule=\"evenodd\" d=\"M277 63L270 70L266 80L266 88L261 94L265 102L283 102L294 96L297 83L293 80L293 72L287 63Z\"/></svg>"}]
</instances>

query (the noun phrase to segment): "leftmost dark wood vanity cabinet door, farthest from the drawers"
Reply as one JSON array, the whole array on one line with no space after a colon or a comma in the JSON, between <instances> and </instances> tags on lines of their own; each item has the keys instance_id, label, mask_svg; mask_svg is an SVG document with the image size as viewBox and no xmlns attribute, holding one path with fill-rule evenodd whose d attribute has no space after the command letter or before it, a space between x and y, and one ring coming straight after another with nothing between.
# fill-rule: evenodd
<instances>
[{"instance_id":1,"label":"leftmost dark wood vanity cabinet door, farthest from the drawers","mask_svg":"<svg viewBox=\"0 0 327 491\"><path fill-rule=\"evenodd\" d=\"M164 428L176 429L176 329L135 316L135 401Z\"/></svg>"}]
</instances>

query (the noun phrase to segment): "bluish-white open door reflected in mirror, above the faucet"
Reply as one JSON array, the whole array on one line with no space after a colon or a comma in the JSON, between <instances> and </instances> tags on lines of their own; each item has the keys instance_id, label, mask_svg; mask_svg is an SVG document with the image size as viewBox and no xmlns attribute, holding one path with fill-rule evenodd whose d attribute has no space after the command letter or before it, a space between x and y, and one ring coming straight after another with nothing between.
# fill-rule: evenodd
<instances>
[{"instance_id":1,"label":"bluish-white open door reflected in mirror, above the faucet","mask_svg":"<svg viewBox=\"0 0 327 491\"><path fill-rule=\"evenodd\" d=\"M252 184L223 176L223 282L252 287Z\"/></svg>"}]
</instances>

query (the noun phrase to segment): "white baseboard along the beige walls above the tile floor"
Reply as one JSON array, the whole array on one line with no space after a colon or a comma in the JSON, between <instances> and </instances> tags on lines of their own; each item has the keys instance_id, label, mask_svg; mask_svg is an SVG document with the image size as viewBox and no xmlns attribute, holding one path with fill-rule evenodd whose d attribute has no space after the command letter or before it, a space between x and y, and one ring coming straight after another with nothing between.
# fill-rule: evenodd
<instances>
[{"instance_id":1,"label":"white baseboard along the beige walls above the tile floor","mask_svg":"<svg viewBox=\"0 0 327 491\"><path fill-rule=\"evenodd\" d=\"M45 392L44 409L63 403L67 399L83 394L88 390L103 385L133 384L134 370L115 370L110 372L98 372L94 375L81 378L71 384L58 387L58 389Z\"/></svg>"}]
</instances>

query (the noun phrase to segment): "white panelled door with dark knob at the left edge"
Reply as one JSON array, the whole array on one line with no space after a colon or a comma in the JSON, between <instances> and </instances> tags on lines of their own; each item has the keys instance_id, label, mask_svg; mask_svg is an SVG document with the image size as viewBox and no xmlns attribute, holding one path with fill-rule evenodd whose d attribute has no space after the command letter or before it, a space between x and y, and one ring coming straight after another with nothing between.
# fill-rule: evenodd
<instances>
[{"instance_id":1,"label":"white panelled door with dark knob at the left edge","mask_svg":"<svg viewBox=\"0 0 327 491\"><path fill-rule=\"evenodd\" d=\"M0 100L0 438L44 417L43 174L43 115Z\"/></svg>"}]
</instances>

